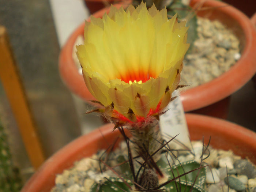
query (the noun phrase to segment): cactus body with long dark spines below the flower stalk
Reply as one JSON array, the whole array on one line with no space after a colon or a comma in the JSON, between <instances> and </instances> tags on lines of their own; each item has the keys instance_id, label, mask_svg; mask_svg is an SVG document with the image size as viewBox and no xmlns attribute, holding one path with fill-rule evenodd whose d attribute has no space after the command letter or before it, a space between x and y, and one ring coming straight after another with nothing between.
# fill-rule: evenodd
<instances>
[{"instance_id":1,"label":"cactus body with long dark spines below the flower stalk","mask_svg":"<svg viewBox=\"0 0 256 192\"><path fill-rule=\"evenodd\" d=\"M168 146L169 142L175 137L165 144L162 143L151 155L148 153L149 149L147 149L145 151L146 157L141 154L134 157L134 154L138 154L138 149L129 146L129 143L133 142L133 138L127 138L122 128L119 130L127 143L128 154L123 154L124 147L114 152L103 153L104 155L98 160L101 172L95 173L101 179L91 185L90 192L161 190L167 192L204 192L206 170L205 166L202 166L203 159L201 159L201 162L195 160L180 162ZM148 146L150 145L148 144ZM202 153L206 153L206 151L207 148L203 147ZM159 152L161 153L159 154ZM191 151L180 152L184 155L192 154ZM154 155L159 156L156 165L154 165L152 158ZM105 159L105 161L102 159ZM149 162L152 164L150 165ZM109 171L111 171L111 174L109 174ZM105 174L103 174L104 172ZM105 176L104 179L102 176Z\"/></svg>"}]
</instances>

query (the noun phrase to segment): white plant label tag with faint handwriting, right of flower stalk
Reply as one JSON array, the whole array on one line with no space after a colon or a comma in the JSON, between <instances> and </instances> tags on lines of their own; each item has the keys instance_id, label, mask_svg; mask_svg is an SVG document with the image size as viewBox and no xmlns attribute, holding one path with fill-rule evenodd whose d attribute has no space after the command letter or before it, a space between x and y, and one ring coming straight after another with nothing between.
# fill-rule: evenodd
<instances>
[{"instance_id":1,"label":"white plant label tag with faint handwriting, right of flower stalk","mask_svg":"<svg viewBox=\"0 0 256 192\"><path fill-rule=\"evenodd\" d=\"M179 96L180 94L179 91L176 90L172 95ZM160 116L160 127L163 138L169 140L170 138L179 134L175 139L185 146L190 146L187 121L180 97L177 97L170 102L166 109L169 110ZM178 144L177 147L178 146L181 145Z\"/></svg>"}]
</instances>

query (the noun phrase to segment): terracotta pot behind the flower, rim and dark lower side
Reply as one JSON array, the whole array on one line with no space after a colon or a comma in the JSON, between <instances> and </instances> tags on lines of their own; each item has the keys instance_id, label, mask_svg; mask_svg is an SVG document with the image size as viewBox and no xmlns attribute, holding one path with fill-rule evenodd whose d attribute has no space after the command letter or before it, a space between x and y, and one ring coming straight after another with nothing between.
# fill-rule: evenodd
<instances>
[{"instance_id":1,"label":"terracotta pot behind the flower, rim and dark lower side","mask_svg":"<svg viewBox=\"0 0 256 192\"><path fill-rule=\"evenodd\" d=\"M194 6L200 0L192 0ZM120 4L115 6L120 7ZM241 42L241 59L230 68L229 71L218 78L194 87L181 93L181 100L185 112L199 110L200 113L210 114L212 116L224 117L227 114L228 99L225 99L246 82L248 82L256 72L256 31L251 21L236 8L227 6L220 1L208 0L203 7L210 7L199 11L199 16L207 17L211 20L220 20L229 29L233 30ZM95 17L101 17L109 8L100 10L94 14ZM72 92L79 95L85 101L95 100L89 93L82 75L78 73L74 60L72 59L72 49L78 35L83 35L84 23L80 25L70 36L67 43L63 46L59 57L60 74L65 84ZM218 105L214 103L219 102ZM210 106L212 105L212 106ZM210 108L205 108L210 106Z\"/></svg>"}]
</instances>

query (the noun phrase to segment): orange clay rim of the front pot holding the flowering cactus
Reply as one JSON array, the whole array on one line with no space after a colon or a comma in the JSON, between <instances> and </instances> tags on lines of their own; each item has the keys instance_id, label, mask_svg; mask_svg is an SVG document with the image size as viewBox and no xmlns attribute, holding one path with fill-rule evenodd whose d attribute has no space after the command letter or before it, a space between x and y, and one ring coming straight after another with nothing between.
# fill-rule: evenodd
<instances>
[{"instance_id":1,"label":"orange clay rim of the front pot holding the flowering cactus","mask_svg":"<svg viewBox=\"0 0 256 192\"><path fill-rule=\"evenodd\" d=\"M254 155L252 154L251 160L256 163L256 133L241 127L240 125L230 123L225 120L221 120L214 117L207 117L197 114L185 114L186 120L189 127L189 132L193 132L194 129L198 129L195 132L205 131L205 132L217 132L217 135L230 136L227 139L231 139L234 142L240 143L241 146L251 146L251 151L255 151ZM82 159L84 155L84 148L89 145L89 143L102 138L102 135L108 137L110 135L117 136L119 132L113 131L113 124L106 124L100 127L99 129L94 130L88 135L82 135L79 138L75 139L71 143L67 144L65 147L61 148L57 153L45 161L45 163L38 169L38 171L30 178L30 180L23 187L21 192L33 191L33 192L43 192L41 190L43 186L52 184L49 182L49 178L55 178L56 174L61 173L64 169L68 169L74 163ZM195 128L196 127L196 128ZM216 134L215 134L216 135ZM200 135L202 139L202 135ZM193 138L192 138L193 139ZM195 137L195 139L197 139ZM217 138L218 139L218 138ZM96 145L96 144L95 144ZM233 146L233 145L232 145ZM234 145L233 148L237 146ZM94 148L94 149L91 149ZM97 146L90 145L90 150L97 149ZM221 147L223 148L223 146ZM225 148L224 148L225 149ZM244 149L244 148L243 148ZM78 158L77 154L80 154ZM242 153L242 151L241 151ZM74 157L75 156L75 157ZM67 165L66 161L72 161ZM51 171L49 171L49 169ZM60 171L61 169L61 171ZM59 170L59 171L57 171ZM38 183L36 181L41 181ZM52 185L51 185L52 186ZM33 190L32 190L33 189ZM48 191L48 190L46 190Z\"/></svg>"}]
</instances>

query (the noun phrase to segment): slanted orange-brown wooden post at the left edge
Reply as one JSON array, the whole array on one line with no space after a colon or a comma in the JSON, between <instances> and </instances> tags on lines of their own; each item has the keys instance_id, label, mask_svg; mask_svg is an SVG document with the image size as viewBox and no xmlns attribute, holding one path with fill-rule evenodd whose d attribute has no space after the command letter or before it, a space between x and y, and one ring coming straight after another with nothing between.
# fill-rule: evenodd
<instances>
[{"instance_id":1,"label":"slanted orange-brown wooden post at the left edge","mask_svg":"<svg viewBox=\"0 0 256 192\"><path fill-rule=\"evenodd\" d=\"M5 27L0 26L0 80L34 169L45 160Z\"/></svg>"}]
</instances>

